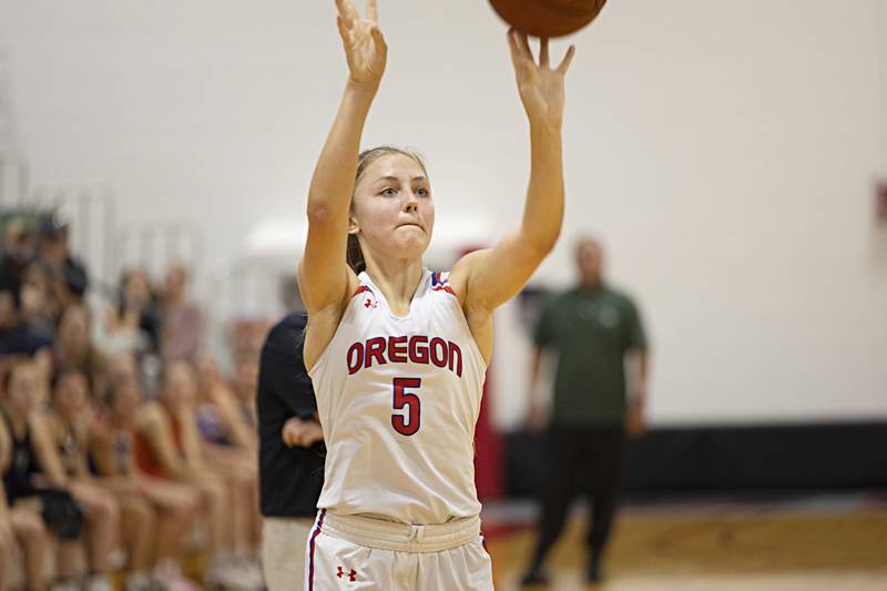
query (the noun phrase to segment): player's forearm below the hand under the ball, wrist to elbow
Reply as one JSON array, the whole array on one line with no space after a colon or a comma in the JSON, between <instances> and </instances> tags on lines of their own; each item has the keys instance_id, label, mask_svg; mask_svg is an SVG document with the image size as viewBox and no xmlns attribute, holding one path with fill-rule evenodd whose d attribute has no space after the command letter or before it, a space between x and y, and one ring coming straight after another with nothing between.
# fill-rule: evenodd
<instances>
[{"instance_id":1,"label":"player's forearm below the hand under the ball, wrist to elbow","mask_svg":"<svg viewBox=\"0 0 887 591\"><path fill-rule=\"evenodd\" d=\"M563 223L563 161L560 125L530 123L530 183L521 240L548 254Z\"/></svg>"}]
</instances>

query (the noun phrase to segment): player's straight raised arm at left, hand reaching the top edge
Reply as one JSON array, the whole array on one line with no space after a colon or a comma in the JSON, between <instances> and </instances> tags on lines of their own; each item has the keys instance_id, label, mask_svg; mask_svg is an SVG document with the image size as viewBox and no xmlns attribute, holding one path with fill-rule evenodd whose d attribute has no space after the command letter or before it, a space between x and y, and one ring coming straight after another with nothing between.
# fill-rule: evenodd
<instances>
[{"instance_id":1,"label":"player's straight raised arm at left, hand reaching the top edge","mask_svg":"<svg viewBox=\"0 0 887 591\"><path fill-rule=\"evenodd\" d=\"M360 136L388 51L377 24L376 0L367 0L366 19L349 0L336 0L336 7L349 77L308 191L308 240L298 272L308 314L345 302L351 274L345 262L348 211Z\"/></svg>"}]
</instances>

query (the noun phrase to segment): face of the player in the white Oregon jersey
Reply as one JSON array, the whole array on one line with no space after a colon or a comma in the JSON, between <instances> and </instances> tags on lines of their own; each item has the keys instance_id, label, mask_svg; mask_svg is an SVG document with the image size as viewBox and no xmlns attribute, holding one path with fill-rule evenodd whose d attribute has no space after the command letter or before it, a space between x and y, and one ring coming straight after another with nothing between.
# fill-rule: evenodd
<instances>
[{"instance_id":1,"label":"face of the player in the white Oregon jersey","mask_svg":"<svg viewBox=\"0 0 887 591\"><path fill-rule=\"evenodd\" d=\"M385 258L421 258L435 227L431 185L418 162L390 154L373 162L355 187L349 232Z\"/></svg>"}]
</instances>

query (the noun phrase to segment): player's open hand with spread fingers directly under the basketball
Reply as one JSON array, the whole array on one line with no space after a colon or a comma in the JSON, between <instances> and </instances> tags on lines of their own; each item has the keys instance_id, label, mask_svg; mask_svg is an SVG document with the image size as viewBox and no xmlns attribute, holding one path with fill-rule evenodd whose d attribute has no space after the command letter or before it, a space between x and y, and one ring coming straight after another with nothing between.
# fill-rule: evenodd
<instances>
[{"instance_id":1,"label":"player's open hand with spread fingers directly under the basketball","mask_svg":"<svg viewBox=\"0 0 887 591\"><path fill-rule=\"evenodd\" d=\"M530 49L527 33L509 30L508 44L520 99L530 123L560 128L563 123L563 79L575 55L575 48L570 45L561 63L552 70L549 65L548 39L539 40L539 63Z\"/></svg>"}]
</instances>

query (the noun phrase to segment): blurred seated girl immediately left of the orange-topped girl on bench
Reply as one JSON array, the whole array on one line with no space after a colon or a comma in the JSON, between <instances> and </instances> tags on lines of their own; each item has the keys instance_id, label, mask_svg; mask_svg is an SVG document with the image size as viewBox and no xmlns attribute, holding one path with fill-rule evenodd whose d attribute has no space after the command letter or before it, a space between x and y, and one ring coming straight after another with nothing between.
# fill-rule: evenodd
<instances>
[{"instance_id":1,"label":"blurred seated girl immediately left of the orange-topped girl on bench","mask_svg":"<svg viewBox=\"0 0 887 591\"><path fill-rule=\"evenodd\" d=\"M196 590L182 575L179 556L196 516L198 491L140 471L134 449L135 416L142 400L139 381L128 371L110 371L109 379L105 429L94 440L92 457L101 475L99 482L116 496L123 509L131 571L128 589Z\"/></svg>"}]
</instances>

